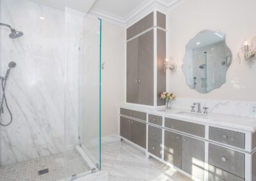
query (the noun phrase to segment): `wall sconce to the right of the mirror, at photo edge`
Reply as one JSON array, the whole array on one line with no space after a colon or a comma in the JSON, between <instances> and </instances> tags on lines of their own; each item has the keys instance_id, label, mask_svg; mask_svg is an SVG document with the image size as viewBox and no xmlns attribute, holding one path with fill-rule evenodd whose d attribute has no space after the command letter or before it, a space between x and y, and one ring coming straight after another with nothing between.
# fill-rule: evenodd
<instances>
[{"instance_id":1,"label":"wall sconce to the right of the mirror, at photo edge","mask_svg":"<svg viewBox=\"0 0 256 181\"><path fill-rule=\"evenodd\" d=\"M241 48L241 52L237 54L239 61L241 61L241 54L244 57L244 61L247 61L250 66L252 61L256 59L256 37L253 37L251 45L248 44L248 41L244 41Z\"/></svg>"}]
</instances>

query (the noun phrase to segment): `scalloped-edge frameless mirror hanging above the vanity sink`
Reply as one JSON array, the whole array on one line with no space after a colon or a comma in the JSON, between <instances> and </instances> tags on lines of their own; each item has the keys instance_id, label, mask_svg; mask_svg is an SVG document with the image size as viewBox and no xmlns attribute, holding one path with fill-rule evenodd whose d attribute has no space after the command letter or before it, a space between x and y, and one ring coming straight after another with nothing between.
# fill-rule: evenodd
<instances>
[{"instance_id":1,"label":"scalloped-edge frameless mirror hanging above the vanity sink","mask_svg":"<svg viewBox=\"0 0 256 181\"><path fill-rule=\"evenodd\" d=\"M232 53L219 31L201 31L188 42L182 69L191 89L211 92L226 82Z\"/></svg>"}]
</instances>

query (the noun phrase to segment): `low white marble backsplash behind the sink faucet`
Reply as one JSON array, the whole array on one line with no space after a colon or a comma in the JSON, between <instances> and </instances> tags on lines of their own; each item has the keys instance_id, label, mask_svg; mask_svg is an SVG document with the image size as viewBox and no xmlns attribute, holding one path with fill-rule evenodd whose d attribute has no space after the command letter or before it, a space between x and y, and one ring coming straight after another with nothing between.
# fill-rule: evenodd
<instances>
[{"instance_id":1,"label":"low white marble backsplash behind the sink faucet","mask_svg":"<svg viewBox=\"0 0 256 181\"><path fill-rule=\"evenodd\" d=\"M220 113L227 115L235 115L241 117L256 118L256 102L246 101L225 101L225 100L209 100L209 99L193 99L193 98L177 98L172 101L172 108L182 108L189 110L193 103L201 103L203 107L208 107L210 113Z\"/></svg>"}]
</instances>

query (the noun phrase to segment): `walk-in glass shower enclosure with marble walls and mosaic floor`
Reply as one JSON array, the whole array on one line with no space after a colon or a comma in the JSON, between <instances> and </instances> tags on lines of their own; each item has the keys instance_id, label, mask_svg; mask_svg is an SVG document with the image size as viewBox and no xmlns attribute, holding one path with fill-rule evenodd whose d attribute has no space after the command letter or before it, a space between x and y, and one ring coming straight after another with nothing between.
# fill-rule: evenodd
<instances>
[{"instance_id":1,"label":"walk-in glass shower enclosure with marble walls and mosaic floor","mask_svg":"<svg viewBox=\"0 0 256 181\"><path fill-rule=\"evenodd\" d=\"M38 2L0 0L0 180L101 167L101 20Z\"/></svg>"}]
</instances>

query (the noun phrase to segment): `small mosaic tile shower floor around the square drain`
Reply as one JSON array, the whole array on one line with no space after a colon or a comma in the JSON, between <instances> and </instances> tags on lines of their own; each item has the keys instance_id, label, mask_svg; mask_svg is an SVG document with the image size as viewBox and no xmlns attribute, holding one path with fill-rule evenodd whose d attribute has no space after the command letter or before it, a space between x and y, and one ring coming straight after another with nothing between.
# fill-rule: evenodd
<instances>
[{"instance_id":1,"label":"small mosaic tile shower floor around the square drain","mask_svg":"<svg viewBox=\"0 0 256 181\"><path fill-rule=\"evenodd\" d=\"M49 168L49 173L38 175L39 170ZM90 170L77 154L76 150L67 152L67 168L65 153L39 157L20 163L0 167L1 181L50 181L60 180L71 175Z\"/></svg>"}]
</instances>

